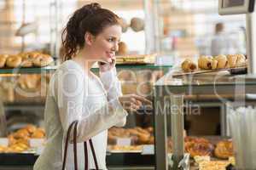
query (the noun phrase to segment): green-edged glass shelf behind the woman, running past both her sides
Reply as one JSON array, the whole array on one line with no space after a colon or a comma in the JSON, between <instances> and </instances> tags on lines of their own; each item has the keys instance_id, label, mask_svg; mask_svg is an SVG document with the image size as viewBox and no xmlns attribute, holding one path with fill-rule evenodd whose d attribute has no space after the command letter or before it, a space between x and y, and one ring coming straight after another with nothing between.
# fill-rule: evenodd
<instances>
[{"instance_id":1,"label":"green-edged glass shelf behind the woman, running past both her sides","mask_svg":"<svg viewBox=\"0 0 256 170\"><path fill-rule=\"evenodd\" d=\"M57 65L54 66L45 66L38 68L2 68L0 69L0 74L38 74L38 73L48 73L53 72L57 69ZM116 65L116 68L119 69L131 69L131 70L139 70L139 69L150 69L150 70L163 70L168 71L168 69L172 68L172 65ZM98 71L98 68L92 68L92 71Z\"/></svg>"}]
</instances>

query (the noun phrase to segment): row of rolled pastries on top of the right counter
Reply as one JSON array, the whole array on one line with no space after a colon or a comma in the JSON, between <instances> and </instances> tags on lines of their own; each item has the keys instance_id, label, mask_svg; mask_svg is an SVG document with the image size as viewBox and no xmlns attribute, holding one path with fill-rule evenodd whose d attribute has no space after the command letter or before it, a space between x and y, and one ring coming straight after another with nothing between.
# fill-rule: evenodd
<instances>
[{"instance_id":1,"label":"row of rolled pastries on top of the right counter","mask_svg":"<svg viewBox=\"0 0 256 170\"><path fill-rule=\"evenodd\" d=\"M229 54L218 56L202 55L198 59L198 65L191 59L185 59L181 65L183 71L192 72L198 68L202 70L219 70L225 68L236 68L247 65L247 59L243 54Z\"/></svg>"}]
</instances>

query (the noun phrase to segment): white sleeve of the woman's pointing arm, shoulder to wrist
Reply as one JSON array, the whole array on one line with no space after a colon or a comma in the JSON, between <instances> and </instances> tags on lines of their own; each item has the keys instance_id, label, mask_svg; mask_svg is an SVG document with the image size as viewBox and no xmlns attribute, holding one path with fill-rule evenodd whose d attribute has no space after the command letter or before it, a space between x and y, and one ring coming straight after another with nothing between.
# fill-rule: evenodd
<instances>
[{"instance_id":1,"label":"white sleeve of the woman's pointing arm, shoulder to wrist","mask_svg":"<svg viewBox=\"0 0 256 170\"><path fill-rule=\"evenodd\" d=\"M79 120L78 142L90 139L97 133L113 127L127 115L118 99L106 102L106 105L102 105L101 109L93 113L83 114L84 98L87 98L87 95L88 77L85 77L83 71L64 67L57 72L55 100L60 113L61 125L67 132L69 125L73 121Z\"/></svg>"}]
</instances>

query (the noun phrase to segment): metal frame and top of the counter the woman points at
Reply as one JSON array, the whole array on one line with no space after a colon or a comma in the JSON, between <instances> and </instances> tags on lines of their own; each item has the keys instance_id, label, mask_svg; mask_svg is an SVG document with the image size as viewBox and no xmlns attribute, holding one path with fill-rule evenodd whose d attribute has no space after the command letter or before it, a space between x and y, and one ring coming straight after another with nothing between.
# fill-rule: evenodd
<instances>
[{"instance_id":1,"label":"metal frame and top of the counter the woman points at","mask_svg":"<svg viewBox=\"0 0 256 170\"><path fill-rule=\"evenodd\" d=\"M154 84L154 136L156 169L170 169L168 138L172 136L173 169L184 156L184 110L186 101L255 102L256 76L232 76L230 72L172 77L166 74ZM225 111L225 110L224 110ZM222 116L223 134L226 116Z\"/></svg>"}]
</instances>

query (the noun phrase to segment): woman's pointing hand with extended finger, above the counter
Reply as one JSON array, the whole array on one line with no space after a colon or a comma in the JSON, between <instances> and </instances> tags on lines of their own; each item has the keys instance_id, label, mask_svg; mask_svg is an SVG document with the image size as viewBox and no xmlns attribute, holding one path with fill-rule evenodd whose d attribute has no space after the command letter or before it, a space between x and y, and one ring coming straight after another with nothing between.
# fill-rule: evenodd
<instances>
[{"instance_id":1,"label":"woman's pointing hand with extended finger, above the counter","mask_svg":"<svg viewBox=\"0 0 256 170\"><path fill-rule=\"evenodd\" d=\"M128 112L136 112L142 105L152 107L152 102L137 94L126 94L119 97L119 102Z\"/></svg>"}]
</instances>

